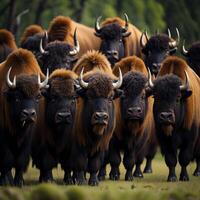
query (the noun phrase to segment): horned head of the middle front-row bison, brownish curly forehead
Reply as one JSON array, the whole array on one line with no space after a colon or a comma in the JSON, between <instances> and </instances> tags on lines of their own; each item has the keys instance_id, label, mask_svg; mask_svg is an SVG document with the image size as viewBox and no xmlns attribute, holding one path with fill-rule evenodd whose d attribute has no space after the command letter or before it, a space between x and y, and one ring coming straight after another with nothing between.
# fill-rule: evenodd
<instances>
[{"instance_id":1,"label":"horned head of the middle front-row bison, brownish curly forehead","mask_svg":"<svg viewBox=\"0 0 200 200\"><path fill-rule=\"evenodd\" d=\"M84 98L85 124L92 130L94 137L102 136L114 125L115 111L114 98L119 93L117 89L122 84L122 74L118 81L113 82L111 77L102 72L96 72L83 80L83 70L80 74L79 94Z\"/></svg>"}]
</instances>

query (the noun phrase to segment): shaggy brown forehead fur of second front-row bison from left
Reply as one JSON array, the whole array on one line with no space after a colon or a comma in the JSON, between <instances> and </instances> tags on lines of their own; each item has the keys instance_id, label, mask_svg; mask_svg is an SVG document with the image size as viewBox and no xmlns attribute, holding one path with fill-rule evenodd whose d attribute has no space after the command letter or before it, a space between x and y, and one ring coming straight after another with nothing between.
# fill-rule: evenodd
<instances>
[{"instance_id":1,"label":"shaggy brown forehead fur of second front-row bison from left","mask_svg":"<svg viewBox=\"0 0 200 200\"><path fill-rule=\"evenodd\" d=\"M49 93L50 96L61 95L73 97L75 92L74 80L78 77L70 70L58 69L55 70L49 79Z\"/></svg>"}]
</instances>

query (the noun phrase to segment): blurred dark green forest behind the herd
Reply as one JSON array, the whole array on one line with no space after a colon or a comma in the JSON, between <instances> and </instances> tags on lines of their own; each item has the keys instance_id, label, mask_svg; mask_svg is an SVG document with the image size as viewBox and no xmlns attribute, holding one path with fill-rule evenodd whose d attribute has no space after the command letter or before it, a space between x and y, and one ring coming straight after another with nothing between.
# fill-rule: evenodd
<instances>
[{"instance_id":1,"label":"blurred dark green forest behind the herd","mask_svg":"<svg viewBox=\"0 0 200 200\"><path fill-rule=\"evenodd\" d=\"M147 29L166 32L169 27L175 33L179 28L186 44L200 38L200 0L0 0L0 28L15 32L16 16L29 9L21 19L17 37L30 24L48 28L57 15L94 26L95 19L120 16L126 12L132 24L141 31Z\"/></svg>"}]
</instances>

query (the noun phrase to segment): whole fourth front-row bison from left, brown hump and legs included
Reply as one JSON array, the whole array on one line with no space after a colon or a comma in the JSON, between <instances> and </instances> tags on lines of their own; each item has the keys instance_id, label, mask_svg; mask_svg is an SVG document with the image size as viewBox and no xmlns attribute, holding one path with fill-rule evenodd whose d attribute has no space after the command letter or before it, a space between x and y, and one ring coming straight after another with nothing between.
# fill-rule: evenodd
<instances>
[{"instance_id":1,"label":"whole fourth front-row bison from left, brown hump and legs included","mask_svg":"<svg viewBox=\"0 0 200 200\"><path fill-rule=\"evenodd\" d=\"M134 164L136 164L134 176L142 177L140 165L144 157L148 155L149 162L151 162L156 152L153 101L152 98L148 99L147 69L140 58L131 56L122 59L113 69L115 75L117 68L123 72L123 84L120 87L123 95L116 100L116 128L109 145L110 179L119 179L122 150L124 152L123 163L126 168L125 180L130 181L133 179ZM148 152L150 147L152 149ZM151 169L150 164L148 167ZM105 169L102 168L99 177L103 179L104 176Z\"/></svg>"}]
</instances>

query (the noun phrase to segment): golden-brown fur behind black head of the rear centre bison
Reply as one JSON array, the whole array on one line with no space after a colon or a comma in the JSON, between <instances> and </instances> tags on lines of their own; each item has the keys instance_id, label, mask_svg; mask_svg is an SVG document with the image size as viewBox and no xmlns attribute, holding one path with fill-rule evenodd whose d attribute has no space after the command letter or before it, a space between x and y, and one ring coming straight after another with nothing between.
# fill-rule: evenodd
<instances>
[{"instance_id":1,"label":"golden-brown fur behind black head of the rear centre bison","mask_svg":"<svg viewBox=\"0 0 200 200\"><path fill-rule=\"evenodd\" d=\"M120 26L125 25L125 21L120 19L119 17L107 18L104 22L102 22L102 26L111 24L111 23L118 23ZM142 52L140 47L140 37L142 35L141 31L135 27L134 25L129 23L128 32L131 32L129 37L124 38L124 45L125 45L125 55L132 56L136 55L142 58Z\"/></svg>"}]
</instances>

